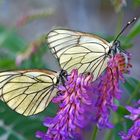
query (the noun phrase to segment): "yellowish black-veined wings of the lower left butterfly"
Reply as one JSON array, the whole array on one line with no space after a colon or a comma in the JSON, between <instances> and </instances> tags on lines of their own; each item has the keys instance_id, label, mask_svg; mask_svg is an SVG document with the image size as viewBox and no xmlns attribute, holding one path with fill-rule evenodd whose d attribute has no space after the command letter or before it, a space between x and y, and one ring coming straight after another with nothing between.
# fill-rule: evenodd
<instances>
[{"instance_id":1,"label":"yellowish black-veined wings of the lower left butterfly","mask_svg":"<svg viewBox=\"0 0 140 140\"><path fill-rule=\"evenodd\" d=\"M47 70L0 73L0 97L25 116L43 111L56 95L57 74Z\"/></svg>"}]
</instances>

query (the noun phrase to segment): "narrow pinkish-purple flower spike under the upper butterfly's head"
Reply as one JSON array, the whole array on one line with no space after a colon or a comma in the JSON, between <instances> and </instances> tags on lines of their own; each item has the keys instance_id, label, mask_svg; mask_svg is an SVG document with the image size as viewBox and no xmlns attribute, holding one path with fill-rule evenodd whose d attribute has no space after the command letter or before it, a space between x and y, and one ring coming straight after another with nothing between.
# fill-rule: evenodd
<instances>
[{"instance_id":1,"label":"narrow pinkish-purple flower spike under the upper butterfly's head","mask_svg":"<svg viewBox=\"0 0 140 140\"><path fill-rule=\"evenodd\" d=\"M109 122L110 110L117 110L114 100L119 100L122 91L119 87L120 80L124 80L123 73L128 72L130 55L128 54L127 64L123 54L116 54L108 62L108 66L100 79L94 83L97 101L95 103L95 122L98 128L112 128Z\"/></svg>"}]
</instances>

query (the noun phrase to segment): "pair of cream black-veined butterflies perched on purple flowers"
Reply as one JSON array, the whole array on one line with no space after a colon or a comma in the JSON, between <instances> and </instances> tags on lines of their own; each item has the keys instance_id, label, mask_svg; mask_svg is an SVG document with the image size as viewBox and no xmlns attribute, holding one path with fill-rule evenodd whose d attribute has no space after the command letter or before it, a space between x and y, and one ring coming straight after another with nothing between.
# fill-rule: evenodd
<instances>
[{"instance_id":1,"label":"pair of cream black-veined butterflies perched on purple flowers","mask_svg":"<svg viewBox=\"0 0 140 140\"><path fill-rule=\"evenodd\" d=\"M78 69L79 73L92 73L94 81L106 69L110 57L116 53L125 55L117 38L113 43L108 43L88 33L52 30L47 35L47 43L59 62L61 72L36 69L0 72L1 100L25 116L43 111L57 95L56 87L60 83L64 84L67 73L72 69Z\"/></svg>"}]
</instances>

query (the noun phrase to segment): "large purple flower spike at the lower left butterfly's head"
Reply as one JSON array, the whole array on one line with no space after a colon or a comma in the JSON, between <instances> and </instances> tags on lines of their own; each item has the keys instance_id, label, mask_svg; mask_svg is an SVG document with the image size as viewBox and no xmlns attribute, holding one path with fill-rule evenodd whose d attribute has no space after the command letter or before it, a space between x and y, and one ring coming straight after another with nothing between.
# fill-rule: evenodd
<instances>
[{"instance_id":1,"label":"large purple flower spike at the lower left butterfly's head","mask_svg":"<svg viewBox=\"0 0 140 140\"><path fill-rule=\"evenodd\" d=\"M78 75L73 70L65 86L59 86L59 96L53 99L59 104L59 111L54 118L47 117L44 125L47 133L37 132L42 140L82 139L82 130L92 118L91 75Z\"/></svg>"}]
</instances>

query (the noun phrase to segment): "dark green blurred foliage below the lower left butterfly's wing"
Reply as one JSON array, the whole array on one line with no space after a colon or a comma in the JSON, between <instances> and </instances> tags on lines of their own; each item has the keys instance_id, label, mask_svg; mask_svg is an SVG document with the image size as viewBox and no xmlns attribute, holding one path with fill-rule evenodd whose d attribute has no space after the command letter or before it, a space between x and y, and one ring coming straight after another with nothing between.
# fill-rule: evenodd
<instances>
[{"instance_id":1,"label":"dark green blurred foliage below the lower left butterfly's wing","mask_svg":"<svg viewBox=\"0 0 140 140\"><path fill-rule=\"evenodd\" d=\"M0 139L7 140L35 140L37 130L46 131L43 126L45 116L53 117L57 107L50 104L47 110L31 117L22 116L12 111L5 103L0 101Z\"/></svg>"}]
</instances>

